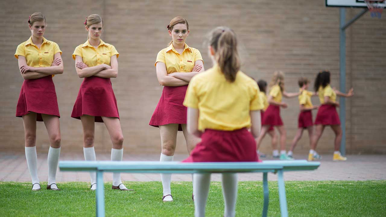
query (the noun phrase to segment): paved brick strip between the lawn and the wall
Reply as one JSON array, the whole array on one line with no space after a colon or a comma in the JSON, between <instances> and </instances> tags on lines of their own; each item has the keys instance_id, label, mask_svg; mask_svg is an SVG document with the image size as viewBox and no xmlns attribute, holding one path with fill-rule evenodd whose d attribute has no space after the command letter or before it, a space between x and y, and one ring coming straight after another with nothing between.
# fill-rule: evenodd
<instances>
[{"instance_id":1,"label":"paved brick strip between the lawn and the wall","mask_svg":"<svg viewBox=\"0 0 386 217\"><path fill-rule=\"evenodd\" d=\"M185 159L187 155L174 156L175 161ZM295 155L296 159L306 159L306 155ZM351 155L344 162L333 162L332 154L323 155L322 164L315 171L284 173L289 180L386 180L386 156ZM47 154L38 152L38 173L40 181L47 181ZM271 158L262 158L271 159ZM63 153L60 160L84 160L83 153ZM97 160L110 160L110 153L97 153ZM126 161L159 161L159 154L124 154ZM270 181L276 181L277 175L270 173ZM105 181L112 181L112 173L105 173ZM212 181L220 181L221 175L212 175ZM239 181L260 181L262 173L240 173ZM24 153L0 152L0 181L31 181ZM58 169L57 182L90 181L88 173L61 172ZM159 174L122 173L122 181L161 181ZM191 181L191 175L173 174L172 181Z\"/></svg>"}]
</instances>

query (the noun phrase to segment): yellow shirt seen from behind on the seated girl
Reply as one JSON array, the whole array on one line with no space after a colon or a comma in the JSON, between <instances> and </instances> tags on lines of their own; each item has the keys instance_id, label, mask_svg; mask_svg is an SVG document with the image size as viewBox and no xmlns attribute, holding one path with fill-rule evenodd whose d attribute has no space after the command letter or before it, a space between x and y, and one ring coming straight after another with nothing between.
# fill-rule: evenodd
<instances>
[{"instance_id":1,"label":"yellow shirt seen from behind on the seated girl","mask_svg":"<svg viewBox=\"0 0 386 217\"><path fill-rule=\"evenodd\" d=\"M218 65L195 75L184 105L198 108L198 130L234 131L251 126L251 110L264 108L256 81L239 71L234 82L225 80Z\"/></svg>"}]
</instances>

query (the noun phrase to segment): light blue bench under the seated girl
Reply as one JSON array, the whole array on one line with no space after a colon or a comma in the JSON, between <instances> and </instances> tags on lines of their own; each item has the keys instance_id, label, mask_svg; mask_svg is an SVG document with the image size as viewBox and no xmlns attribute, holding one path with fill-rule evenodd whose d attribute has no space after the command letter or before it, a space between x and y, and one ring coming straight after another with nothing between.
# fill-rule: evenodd
<instances>
[{"instance_id":1,"label":"light blue bench under the seated girl","mask_svg":"<svg viewBox=\"0 0 386 217\"><path fill-rule=\"evenodd\" d=\"M104 172L118 173L263 173L264 207L262 216L268 211L268 172L278 173L279 203L281 216L287 217L287 200L284 186L284 171L315 170L319 162L306 160L257 162L181 163L159 161L60 161L61 171L89 171L97 173L97 217L105 216ZM160 189L161 191L161 189Z\"/></svg>"}]
</instances>

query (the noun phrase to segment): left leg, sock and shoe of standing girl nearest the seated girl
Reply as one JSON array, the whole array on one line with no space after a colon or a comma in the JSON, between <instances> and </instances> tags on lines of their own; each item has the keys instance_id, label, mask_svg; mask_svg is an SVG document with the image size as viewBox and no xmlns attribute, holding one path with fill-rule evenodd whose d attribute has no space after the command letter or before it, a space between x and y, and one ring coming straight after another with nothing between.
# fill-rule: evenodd
<instances>
[{"instance_id":1,"label":"left leg, sock and shoe of standing girl nearest the seated girl","mask_svg":"<svg viewBox=\"0 0 386 217\"><path fill-rule=\"evenodd\" d=\"M161 135L161 157L159 161L173 161L176 151L178 124L166 124L159 126ZM163 195L171 195L171 174L161 173ZM171 196L164 197L163 201L173 201Z\"/></svg>"}]
</instances>

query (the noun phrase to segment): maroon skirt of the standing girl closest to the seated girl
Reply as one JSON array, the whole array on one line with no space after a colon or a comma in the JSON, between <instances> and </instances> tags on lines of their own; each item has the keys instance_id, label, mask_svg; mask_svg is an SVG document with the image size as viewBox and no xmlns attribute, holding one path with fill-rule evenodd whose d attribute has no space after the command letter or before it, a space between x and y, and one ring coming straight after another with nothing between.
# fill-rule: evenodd
<instances>
[{"instance_id":1,"label":"maroon skirt of the standing girl closest to the seated girl","mask_svg":"<svg viewBox=\"0 0 386 217\"><path fill-rule=\"evenodd\" d=\"M187 108L182 104L188 85L164 86L161 98L151 116L149 125L178 124L178 131L182 131L181 124L186 124Z\"/></svg>"}]
</instances>

